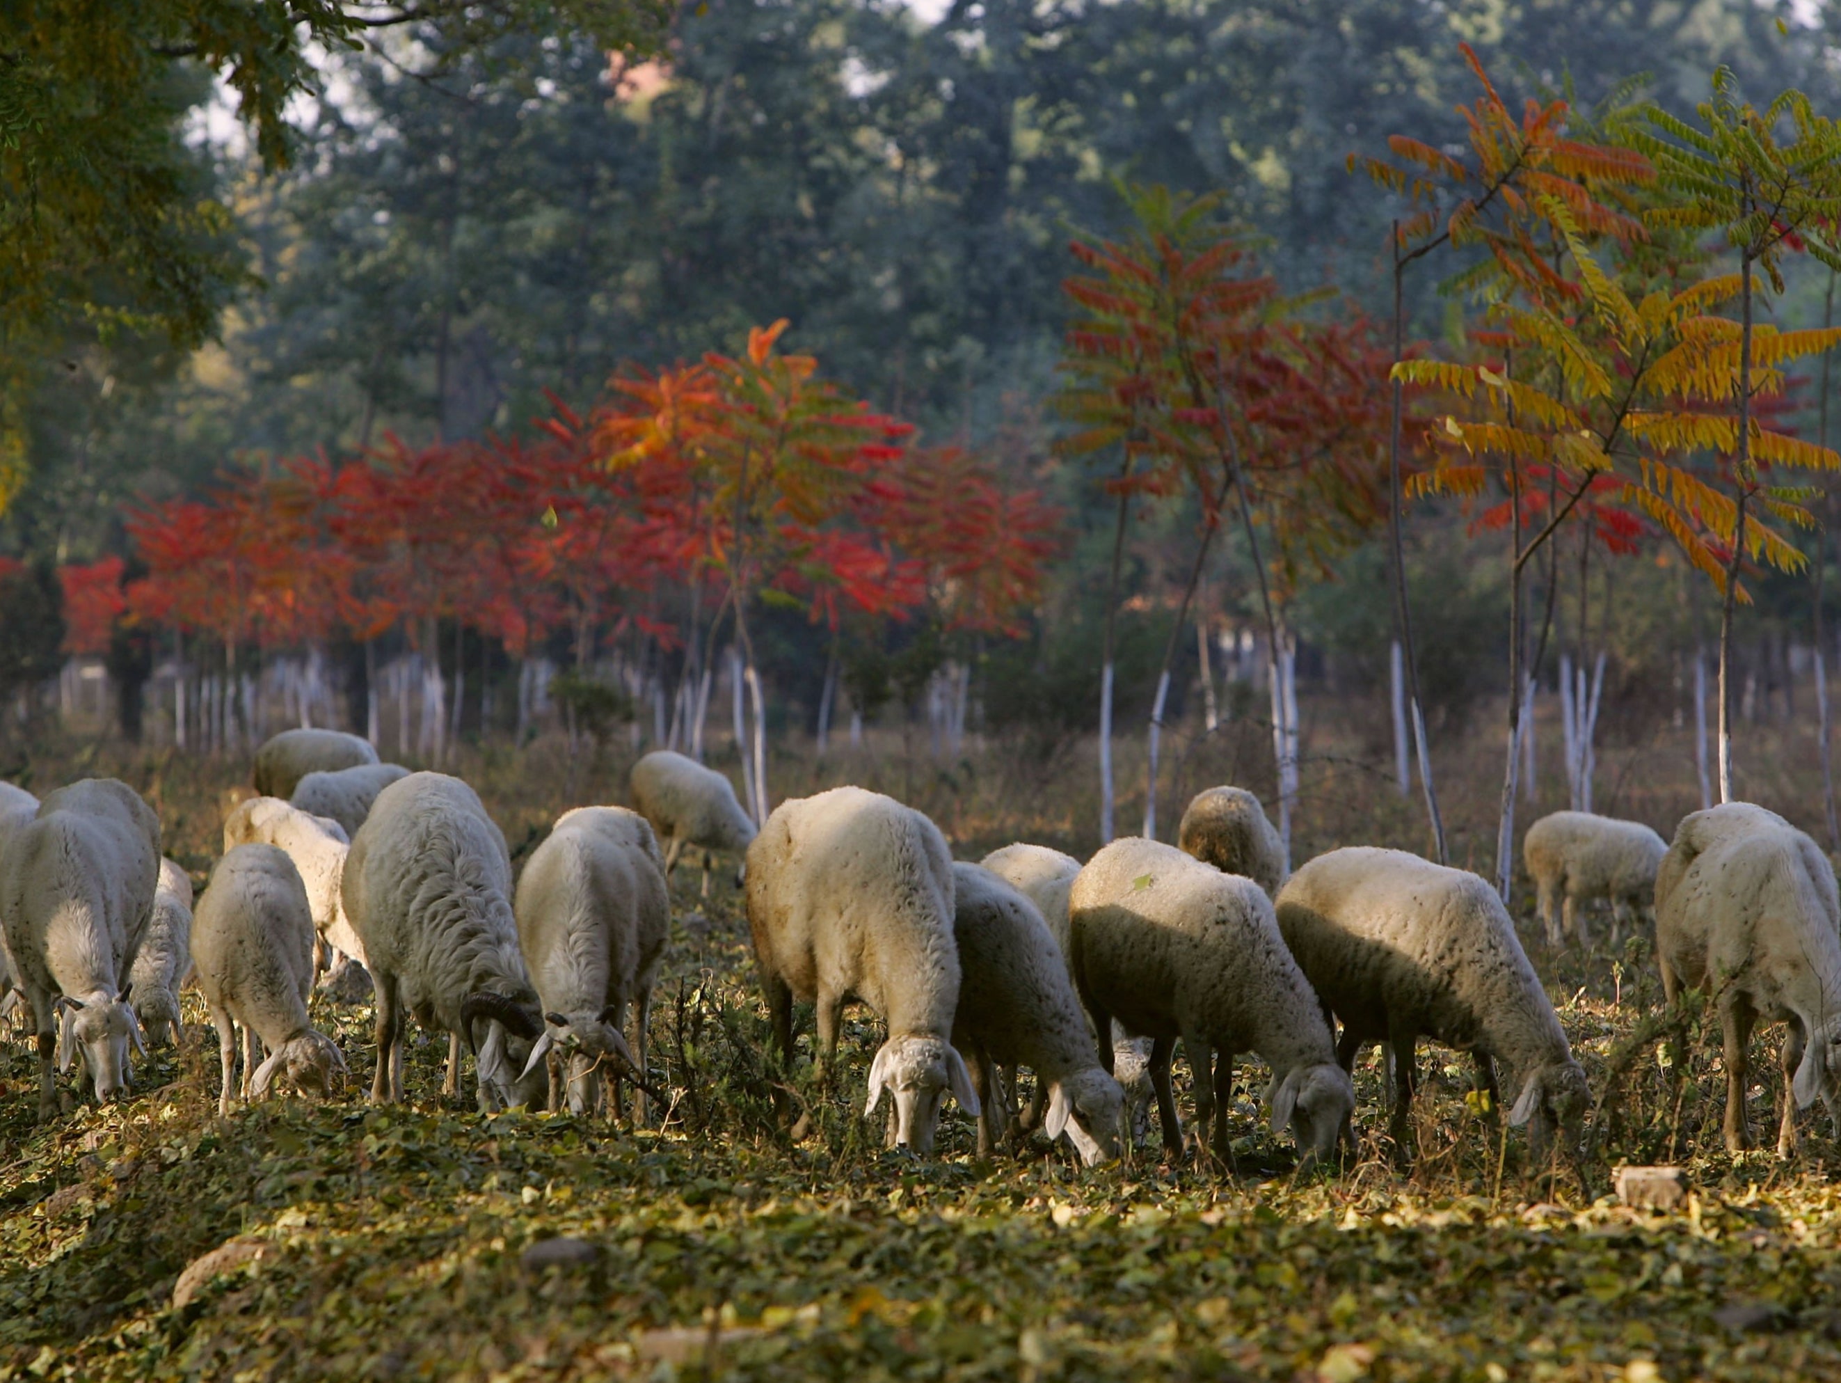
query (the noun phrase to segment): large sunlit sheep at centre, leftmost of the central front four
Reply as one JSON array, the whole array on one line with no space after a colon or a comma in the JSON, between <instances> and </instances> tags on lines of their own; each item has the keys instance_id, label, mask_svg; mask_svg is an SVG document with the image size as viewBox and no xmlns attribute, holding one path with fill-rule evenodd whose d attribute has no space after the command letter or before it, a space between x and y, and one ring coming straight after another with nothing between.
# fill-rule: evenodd
<instances>
[{"instance_id":1,"label":"large sunlit sheep at centre, leftmost of the central front four","mask_svg":"<svg viewBox=\"0 0 1841 1383\"><path fill-rule=\"evenodd\" d=\"M930 1153L948 1088L978 1116L972 1075L950 1042L959 948L939 827L863 788L781 803L747 847L747 924L788 1068L795 998L817 1004L819 1079L838 1055L845 1000L860 998L889 1026L865 1110L895 1094L889 1142Z\"/></svg>"}]
</instances>

